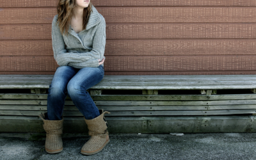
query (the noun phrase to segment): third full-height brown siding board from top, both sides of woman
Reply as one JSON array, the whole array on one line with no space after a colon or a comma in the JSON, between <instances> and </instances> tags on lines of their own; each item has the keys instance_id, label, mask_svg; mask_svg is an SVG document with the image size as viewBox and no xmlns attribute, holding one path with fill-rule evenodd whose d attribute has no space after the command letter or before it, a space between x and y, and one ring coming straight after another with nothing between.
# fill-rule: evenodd
<instances>
[{"instance_id":1,"label":"third full-height brown siding board from top, both sides of woman","mask_svg":"<svg viewBox=\"0 0 256 160\"><path fill-rule=\"evenodd\" d=\"M106 56L255 55L256 39L107 40ZM0 40L0 56L52 56L51 40Z\"/></svg>"}]
</instances>

